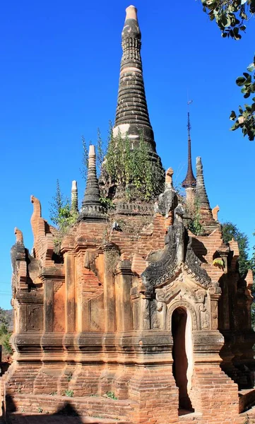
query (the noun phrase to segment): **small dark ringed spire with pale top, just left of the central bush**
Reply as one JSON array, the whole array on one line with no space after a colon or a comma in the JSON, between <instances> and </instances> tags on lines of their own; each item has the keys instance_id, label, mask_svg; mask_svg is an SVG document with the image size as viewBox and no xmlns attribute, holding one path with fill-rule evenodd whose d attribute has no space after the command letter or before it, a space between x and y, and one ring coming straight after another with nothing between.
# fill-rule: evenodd
<instances>
[{"instance_id":1,"label":"small dark ringed spire with pale top, just left of the central bush","mask_svg":"<svg viewBox=\"0 0 255 424\"><path fill-rule=\"evenodd\" d=\"M95 165L95 146L90 145L88 151L88 176L85 194L81 206L81 219L104 218L104 210L100 202L100 189Z\"/></svg>"}]
</instances>

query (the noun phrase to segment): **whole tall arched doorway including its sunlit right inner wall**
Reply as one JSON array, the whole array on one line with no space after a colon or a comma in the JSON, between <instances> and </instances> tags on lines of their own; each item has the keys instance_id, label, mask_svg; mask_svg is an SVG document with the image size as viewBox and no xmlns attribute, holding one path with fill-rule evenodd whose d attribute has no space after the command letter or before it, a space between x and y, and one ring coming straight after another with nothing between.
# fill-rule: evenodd
<instances>
[{"instance_id":1,"label":"whole tall arched doorway including its sunlit right inner wall","mask_svg":"<svg viewBox=\"0 0 255 424\"><path fill-rule=\"evenodd\" d=\"M191 331L191 317L186 308L177 307L172 313L172 372L179 388L179 409L186 411L194 411L188 393L193 368Z\"/></svg>"}]
</instances>

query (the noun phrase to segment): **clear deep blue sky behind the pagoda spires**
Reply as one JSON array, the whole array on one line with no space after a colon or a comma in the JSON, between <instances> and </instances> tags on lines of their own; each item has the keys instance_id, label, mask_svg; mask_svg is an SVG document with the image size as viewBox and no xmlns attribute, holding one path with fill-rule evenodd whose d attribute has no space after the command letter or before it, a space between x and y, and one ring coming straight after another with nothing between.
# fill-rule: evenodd
<instances>
[{"instance_id":1,"label":"clear deep blue sky behind the pagoda spires","mask_svg":"<svg viewBox=\"0 0 255 424\"><path fill-rule=\"evenodd\" d=\"M81 135L95 141L114 121L124 0L11 1L0 16L0 306L10 307L13 229L32 247L30 195L49 201L81 178ZM223 39L200 1L137 0L150 120L158 154L174 180L186 174L186 100L193 163L201 155L211 206L255 242L255 144L229 130L243 98L235 79L254 56L255 25L241 41Z\"/></svg>"}]
</instances>

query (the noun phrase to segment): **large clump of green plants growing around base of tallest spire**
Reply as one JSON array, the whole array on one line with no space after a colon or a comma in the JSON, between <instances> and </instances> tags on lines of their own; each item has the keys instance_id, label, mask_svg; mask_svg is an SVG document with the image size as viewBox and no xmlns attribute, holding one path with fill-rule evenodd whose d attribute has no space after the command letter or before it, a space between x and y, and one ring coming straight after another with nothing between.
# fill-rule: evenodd
<instances>
[{"instance_id":1,"label":"large clump of green plants growing around base of tallest spire","mask_svg":"<svg viewBox=\"0 0 255 424\"><path fill-rule=\"evenodd\" d=\"M127 201L150 201L163 192L165 172L159 159L152 163L142 133L136 149L128 136L125 139L121 137L120 131L117 137L111 134L103 166L112 184L121 187Z\"/></svg>"}]
</instances>

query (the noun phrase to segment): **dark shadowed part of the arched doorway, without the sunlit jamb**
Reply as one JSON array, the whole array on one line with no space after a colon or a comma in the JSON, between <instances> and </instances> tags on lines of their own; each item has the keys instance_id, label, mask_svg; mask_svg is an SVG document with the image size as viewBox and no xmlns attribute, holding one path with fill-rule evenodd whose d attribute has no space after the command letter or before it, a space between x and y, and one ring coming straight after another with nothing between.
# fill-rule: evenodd
<instances>
[{"instance_id":1,"label":"dark shadowed part of the arched doorway, without the sunlit jamb","mask_svg":"<svg viewBox=\"0 0 255 424\"><path fill-rule=\"evenodd\" d=\"M187 313L182 307L177 307L172 314L172 372L177 387L179 388L179 409L194 412L188 394L188 358L186 355L186 323Z\"/></svg>"}]
</instances>

